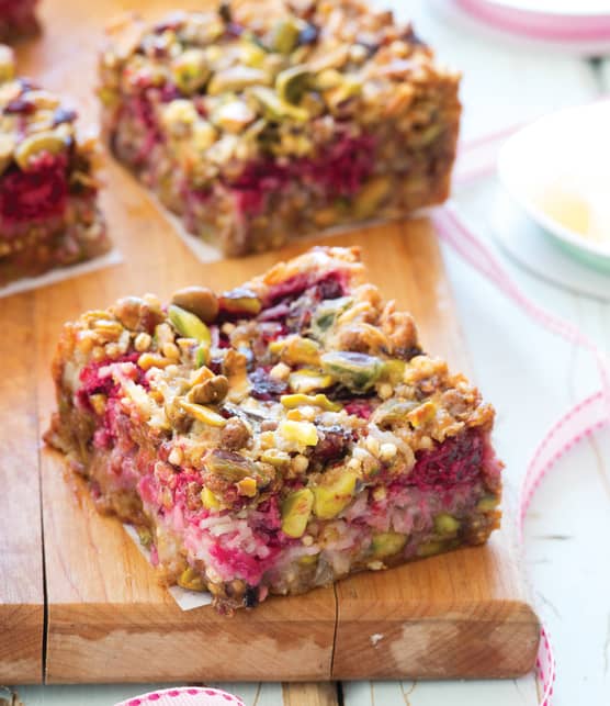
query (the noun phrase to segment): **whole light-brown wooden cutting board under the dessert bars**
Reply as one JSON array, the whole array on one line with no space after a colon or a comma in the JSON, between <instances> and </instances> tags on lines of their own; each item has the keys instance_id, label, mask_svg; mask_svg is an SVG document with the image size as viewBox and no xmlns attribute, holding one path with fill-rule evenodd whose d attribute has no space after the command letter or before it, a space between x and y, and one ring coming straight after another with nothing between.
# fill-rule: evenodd
<instances>
[{"instance_id":1,"label":"whole light-brown wooden cutting board under the dessert bars","mask_svg":"<svg viewBox=\"0 0 610 706\"><path fill-rule=\"evenodd\" d=\"M192 4L192 3L191 3ZM46 0L21 71L71 94L95 123L95 47L117 10L168 2ZM201 7L201 3L200 3ZM54 408L61 324L117 296L238 284L313 243L360 245L371 280L418 321L427 350L467 369L434 233L426 220L203 265L131 175L108 158L102 197L123 264L0 301L0 682L315 681L515 676L534 663L539 623L516 560L513 516L486 547L366 573L235 617L182 612L117 520L93 509L63 458L39 449ZM42 520L42 522L41 522ZM43 540L44 537L44 540ZM44 556L44 574L43 574Z\"/></svg>"}]
</instances>

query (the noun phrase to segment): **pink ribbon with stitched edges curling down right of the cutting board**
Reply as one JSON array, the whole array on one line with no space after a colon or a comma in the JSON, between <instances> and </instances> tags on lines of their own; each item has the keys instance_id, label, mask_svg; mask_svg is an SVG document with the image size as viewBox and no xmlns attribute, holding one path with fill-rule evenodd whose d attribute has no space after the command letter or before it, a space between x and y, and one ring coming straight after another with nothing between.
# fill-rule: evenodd
<instances>
[{"instance_id":1,"label":"pink ribbon with stitched edges curling down right of the cutting board","mask_svg":"<svg viewBox=\"0 0 610 706\"><path fill-rule=\"evenodd\" d=\"M544 311L523 294L490 249L466 225L454 205L437 209L432 213L432 221L442 240L451 245L532 320L568 343L588 350L596 360L601 379L601 390L579 402L556 422L544 435L528 463L519 503L518 527L522 542L526 515L544 475L575 444L610 423L610 365L602 351L576 326ZM541 629L536 675L542 685L540 704L550 706L555 681L555 658L544 627Z\"/></svg>"}]
</instances>

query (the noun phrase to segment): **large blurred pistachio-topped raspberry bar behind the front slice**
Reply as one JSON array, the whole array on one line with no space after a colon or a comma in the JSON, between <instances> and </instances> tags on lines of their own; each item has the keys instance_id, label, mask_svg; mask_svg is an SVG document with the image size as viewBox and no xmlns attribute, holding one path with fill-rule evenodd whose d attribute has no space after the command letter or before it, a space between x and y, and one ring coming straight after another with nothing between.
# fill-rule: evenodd
<instances>
[{"instance_id":1,"label":"large blurred pistachio-topped raspberry bar behind the front slice","mask_svg":"<svg viewBox=\"0 0 610 706\"><path fill-rule=\"evenodd\" d=\"M110 30L99 94L117 158L229 256L443 201L459 75L359 0L262 8Z\"/></svg>"}]
</instances>

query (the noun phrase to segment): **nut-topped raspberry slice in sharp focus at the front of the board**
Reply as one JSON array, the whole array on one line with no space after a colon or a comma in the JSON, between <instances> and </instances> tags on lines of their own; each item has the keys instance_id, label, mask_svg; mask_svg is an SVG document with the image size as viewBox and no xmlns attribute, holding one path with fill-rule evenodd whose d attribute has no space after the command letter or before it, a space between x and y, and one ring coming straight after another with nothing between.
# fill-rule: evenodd
<instances>
[{"instance_id":1,"label":"nut-topped raspberry slice in sharp focus at the front of the board","mask_svg":"<svg viewBox=\"0 0 610 706\"><path fill-rule=\"evenodd\" d=\"M223 612L498 526L494 411L422 352L358 250L242 287L122 299L66 324L46 440L170 584Z\"/></svg>"}]
</instances>

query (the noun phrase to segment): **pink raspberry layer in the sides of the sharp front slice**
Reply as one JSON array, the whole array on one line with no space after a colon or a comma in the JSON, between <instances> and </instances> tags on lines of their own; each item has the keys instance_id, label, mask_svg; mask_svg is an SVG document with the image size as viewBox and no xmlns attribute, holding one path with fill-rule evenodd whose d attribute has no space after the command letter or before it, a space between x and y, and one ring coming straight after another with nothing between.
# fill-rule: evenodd
<instances>
[{"instance_id":1,"label":"pink raspberry layer in the sides of the sharp front slice","mask_svg":"<svg viewBox=\"0 0 610 706\"><path fill-rule=\"evenodd\" d=\"M133 441L137 438L134 423L120 404L121 389L110 372L121 366L122 374L146 386L145 373L134 365L136 357L131 354L114 361L91 362L80 373L77 403L81 408L93 410L92 394L106 395L93 444L111 455L109 468L117 475L112 483L137 492L146 512L181 538L191 558L202 560L225 581L239 578L257 586L268 572L290 561L293 548L301 548L300 540L281 530L279 495L222 531L218 528L229 522L231 513L218 515L201 505L192 508L190 486L201 486L200 473L170 464L169 442L161 441L156 451L145 451ZM353 413L364 416L369 412L365 401L350 404ZM408 475L392 482L385 479L384 500L375 501L370 492L346 511L342 517L353 533L354 547L372 530L429 531L438 512L470 512L483 494L483 481L489 488L499 484L500 469L488 433L482 429L468 429L432 450L418 452ZM384 482L383 472L377 481Z\"/></svg>"}]
</instances>

